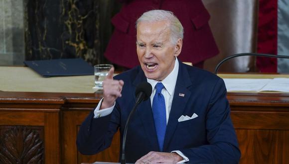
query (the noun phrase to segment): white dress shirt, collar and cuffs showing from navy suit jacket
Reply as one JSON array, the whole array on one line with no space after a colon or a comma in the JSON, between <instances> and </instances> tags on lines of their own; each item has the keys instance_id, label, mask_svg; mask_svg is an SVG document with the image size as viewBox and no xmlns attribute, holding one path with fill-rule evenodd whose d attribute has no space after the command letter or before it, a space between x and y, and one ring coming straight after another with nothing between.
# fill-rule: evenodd
<instances>
[{"instance_id":1,"label":"white dress shirt, collar and cuffs showing from navy suit jacket","mask_svg":"<svg viewBox=\"0 0 289 164\"><path fill-rule=\"evenodd\" d=\"M165 101L166 124L168 122L168 117L169 117L169 113L170 113L170 109L171 109L175 84L176 84L177 75L178 75L178 68L179 68L179 64L178 64L178 60L176 58L175 62L174 62L173 70L171 71L171 73L168 74L168 76L164 80L161 81L161 83L164 86L164 89L161 90L161 94L163 94L164 101ZM156 91L156 89L154 87L155 87L156 83L159 81L155 81L155 80L151 80L151 79L147 79L147 78L146 78L146 80L148 83L150 83L150 85L152 87L152 92L150 95L150 105L152 106L153 96L154 96L155 91ZM102 103L102 100L103 100L103 98L100 100L100 102L98 103L97 107L94 110L94 118L99 118L99 117L104 117L104 116L109 115L115 107L116 103L110 108L99 110L101 103ZM184 154L181 153L180 151L172 151L171 153L173 153L173 152L177 153L178 155L180 155L184 159L184 160L178 162L177 164L182 164L182 163L189 161L189 159L187 157L185 157Z\"/></svg>"}]
</instances>

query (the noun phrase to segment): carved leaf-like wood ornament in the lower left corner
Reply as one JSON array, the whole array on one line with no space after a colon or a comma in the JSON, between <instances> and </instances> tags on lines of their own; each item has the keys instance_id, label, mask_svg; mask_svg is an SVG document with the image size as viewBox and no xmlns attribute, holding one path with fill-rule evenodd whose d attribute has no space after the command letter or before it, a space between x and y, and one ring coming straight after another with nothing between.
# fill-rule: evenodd
<instances>
[{"instance_id":1,"label":"carved leaf-like wood ornament in the lower left corner","mask_svg":"<svg viewBox=\"0 0 289 164\"><path fill-rule=\"evenodd\" d=\"M0 136L0 164L43 164L44 144L36 130L14 126Z\"/></svg>"}]
</instances>

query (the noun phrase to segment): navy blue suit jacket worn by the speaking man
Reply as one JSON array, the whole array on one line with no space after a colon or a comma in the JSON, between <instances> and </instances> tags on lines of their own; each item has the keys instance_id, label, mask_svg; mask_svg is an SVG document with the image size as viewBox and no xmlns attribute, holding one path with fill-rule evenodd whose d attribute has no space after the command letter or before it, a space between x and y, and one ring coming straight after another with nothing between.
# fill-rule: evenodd
<instances>
[{"instance_id":1,"label":"navy blue suit jacket worn by the speaking man","mask_svg":"<svg viewBox=\"0 0 289 164\"><path fill-rule=\"evenodd\" d=\"M77 137L82 154L93 155L108 148L118 129L122 141L126 120L136 101L136 86L146 81L139 66L114 79L125 82L122 97L116 100L110 115L94 119L92 111L82 123ZM193 113L198 117L178 122L181 115L191 117ZM129 163L135 163L150 151L159 152L149 99L139 105L131 118L126 150ZM163 147L163 152L174 150L188 157L188 163L236 164L240 159L223 80L182 63L179 63Z\"/></svg>"}]
</instances>

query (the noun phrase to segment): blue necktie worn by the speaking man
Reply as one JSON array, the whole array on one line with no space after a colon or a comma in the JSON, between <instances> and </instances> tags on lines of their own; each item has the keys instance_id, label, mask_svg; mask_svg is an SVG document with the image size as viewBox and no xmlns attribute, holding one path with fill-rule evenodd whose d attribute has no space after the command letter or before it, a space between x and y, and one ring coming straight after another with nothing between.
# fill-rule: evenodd
<instances>
[{"instance_id":1,"label":"blue necktie worn by the speaking man","mask_svg":"<svg viewBox=\"0 0 289 164\"><path fill-rule=\"evenodd\" d=\"M161 94L161 90L164 88L161 82L155 85L156 92L152 101L152 114L154 119L154 126L156 131L156 136L158 140L159 150L163 150L163 142L166 130L166 111L165 111L165 101Z\"/></svg>"}]
</instances>

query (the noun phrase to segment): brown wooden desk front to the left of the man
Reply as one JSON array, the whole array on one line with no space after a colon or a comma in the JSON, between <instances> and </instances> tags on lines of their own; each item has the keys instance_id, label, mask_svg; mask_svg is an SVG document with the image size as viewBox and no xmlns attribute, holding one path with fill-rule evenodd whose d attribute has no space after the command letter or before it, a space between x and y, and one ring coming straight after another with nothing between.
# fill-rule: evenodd
<instances>
[{"instance_id":1,"label":"brown wooden desk front to the left of the man","mask_svg":"<svg viewBox=\"0 0 289 164\"><path fill-rule=\"evenodd\" d=\"M101 95L0 91L0 163L7 163L1 160L8 153L2 156L2 152L10 152L20 159L17 151L23 152L27 159L39 157L38 161L46 164L117 162L119 138L110 149L95 156L82 156L76 149L78 129L99 102L96 97ZM22 144L30 144L26 149L31 153L25 153Z\"/></svg>"}]
</instances>

